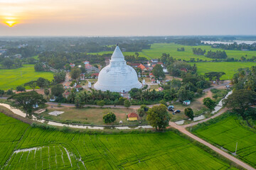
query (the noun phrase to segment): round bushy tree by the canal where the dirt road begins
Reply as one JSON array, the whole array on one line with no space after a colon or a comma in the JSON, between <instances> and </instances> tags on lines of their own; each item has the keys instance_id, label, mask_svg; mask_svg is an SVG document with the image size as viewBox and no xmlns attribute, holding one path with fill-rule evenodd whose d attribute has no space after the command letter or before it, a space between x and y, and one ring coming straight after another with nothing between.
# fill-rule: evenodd
<instances>
[{"instance_id":1,"label":"round bushy tree by the canal where the dirt road begins","mask_svg":"<svg viewBox=\"0 0 256 170\"><path fill-rule=\"evenodd\" d=\"M169 125L170 119L167 108L163 104L149 108L146 116L146 120L148 120L149 124L156 128L156 130L164 130Z\"/></svg>"}]
</instances>

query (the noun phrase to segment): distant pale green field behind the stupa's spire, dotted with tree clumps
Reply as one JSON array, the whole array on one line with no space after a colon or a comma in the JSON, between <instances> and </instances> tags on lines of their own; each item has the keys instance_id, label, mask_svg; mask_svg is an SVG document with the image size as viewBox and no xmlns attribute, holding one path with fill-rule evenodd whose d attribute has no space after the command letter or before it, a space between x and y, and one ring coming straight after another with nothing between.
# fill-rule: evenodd
<instances>
[{"instance_id":1,"label":"distant pale green field behind the stupa's spire, dotted with tree clumps","mask_svg":"<svg viewBox=\"0 0 256 170\"><path fill-rule=\"evenodd\" d=\"M178 52L177 48L184 47L184 52ZM150 49L142 50L142 52L139 52L139 56L141 57L148 57L150 58L160 58L163 53L169 53L171 57L174 57L176 59L181 60L187 60L189 61L191 58L194 58L195 60L212 60L208 57L205 57L203 55L193 55L192 48L196 47L203 50L222 50L220 48L211 48L210 45L198 45L198 46L188 46L188 45L176 45L174 43L154 43L151 45ZM247 58L251 58L252 56L256 56L256 51L238 51L238 50L225 50L228 57L233 57L235 59L240 59L240 57L247 55ZM91 54L112 54L112 52L94 52ZM124 55L134 55L134 52L124 52Z\"/></svg>"}]
</instances>

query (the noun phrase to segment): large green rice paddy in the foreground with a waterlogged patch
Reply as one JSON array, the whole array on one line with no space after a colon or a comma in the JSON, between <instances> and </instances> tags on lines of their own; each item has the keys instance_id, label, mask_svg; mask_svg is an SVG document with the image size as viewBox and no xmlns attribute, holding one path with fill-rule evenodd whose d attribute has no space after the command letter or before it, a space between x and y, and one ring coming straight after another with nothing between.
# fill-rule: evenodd
<instances>
[{"instance_id":1,"label":"large green rice paddy in the foreground with a waterlogged patch","mask_svg":"<svg viewBox=\"0 0 256 170\"><path fill-rule=\"evenodd\" d=\"M174 132L88 135L0 113L0 169L235 169Z\"/></svg>"}]
</instances>

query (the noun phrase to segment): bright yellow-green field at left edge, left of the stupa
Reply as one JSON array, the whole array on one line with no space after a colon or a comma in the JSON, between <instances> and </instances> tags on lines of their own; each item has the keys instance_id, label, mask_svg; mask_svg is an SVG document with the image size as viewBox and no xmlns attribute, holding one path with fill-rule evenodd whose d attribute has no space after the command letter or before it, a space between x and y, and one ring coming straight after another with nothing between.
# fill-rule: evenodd
<instances>
[{"instance_id":1,"label":"bright yellow-green field at left edge, left of the stupa","mask_svg":"<svg viewBox=\"0 0 256 170\"><path fill-rule=\"evenodd\" d=\"M0 89L15 89L16 86L23 85L28 81L43 77L48 80L53 79L52 72L35 72L33 64L24 64L18 69L0 69ZM28 87L26 87L28 89Z\"/></svg>"}]
</instances>

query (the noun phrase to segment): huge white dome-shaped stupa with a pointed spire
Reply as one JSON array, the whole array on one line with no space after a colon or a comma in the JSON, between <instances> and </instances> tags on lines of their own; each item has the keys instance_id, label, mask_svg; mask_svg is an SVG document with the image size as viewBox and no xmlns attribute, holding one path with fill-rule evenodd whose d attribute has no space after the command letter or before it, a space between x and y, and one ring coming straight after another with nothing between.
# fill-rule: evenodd
<instances>
[{"instance_id":1,"label":"huge white dome-shaped stupa with a pointed spire","mask_svg":"<svg viewBox=\"0 0 256 170\"><path fill-rule=\"evenodd\" d=\"M142 88L142 84L138 81L137 72L127 65L118 45L112 54L110 64L100 71L94 87L97 90L116 92Z\"/></svg>"}]
</instances>

